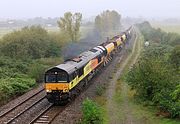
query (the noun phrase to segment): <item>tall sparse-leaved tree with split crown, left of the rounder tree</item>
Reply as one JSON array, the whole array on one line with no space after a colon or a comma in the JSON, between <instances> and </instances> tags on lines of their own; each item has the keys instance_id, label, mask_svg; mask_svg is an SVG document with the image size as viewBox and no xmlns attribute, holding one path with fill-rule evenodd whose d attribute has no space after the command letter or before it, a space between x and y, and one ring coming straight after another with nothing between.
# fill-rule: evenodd
<instances>
[{"instance_id":1,"label":"tall sparse-leaved tree with split crown, left of the rounder tree","mask_svg":"<svg viewBox=\"0 0 180 124\"><path fill-rule=\"evenodd\" d=\"M61 32L68 34L71 41L77 41L80 37L80 26L82 21L82 14L66 12L64 17L59 19L58 26Z\"/></svg>"}]
</instances>

